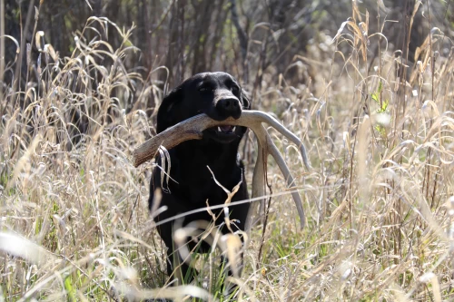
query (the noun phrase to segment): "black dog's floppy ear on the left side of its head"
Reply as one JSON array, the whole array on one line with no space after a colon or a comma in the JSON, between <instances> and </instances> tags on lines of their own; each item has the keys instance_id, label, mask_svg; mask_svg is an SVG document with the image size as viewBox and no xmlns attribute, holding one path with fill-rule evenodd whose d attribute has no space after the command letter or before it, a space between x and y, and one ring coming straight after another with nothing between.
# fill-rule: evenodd
<instances>
[{"instance_id":1,"label":"black dog's floppy ear on the left side of its head","mask_svg":"<svg viewBox=\"0 0 454 302\"><path fill-rule=\"evenodd\" d=\"M183 91L181 87L173 89L164 98L158 109L156 132L161 133L167 128L176 124L178 119L178 103L183 100Z\"/></svg>"}]
</instances>

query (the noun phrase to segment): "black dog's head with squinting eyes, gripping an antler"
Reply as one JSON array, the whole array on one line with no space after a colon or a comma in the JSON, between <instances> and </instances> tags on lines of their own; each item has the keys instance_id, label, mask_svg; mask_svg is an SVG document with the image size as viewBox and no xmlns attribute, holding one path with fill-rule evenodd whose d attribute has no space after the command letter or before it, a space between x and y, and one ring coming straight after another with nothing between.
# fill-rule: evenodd
<instances>
[{"instance_id":1,"label":"black dog's head with squinting eyes, gripping an antler","mask_svg":"<svg viewBox=\"0 0 454 302\"><path fill-rule=\"evenodd\" d=\"M158 110L157 132L183 122L200 113L213 120L229 117L240 118L243 109L250 109L250 102L242 88L229 73L197 73L174 88ZM242 138L245 127L222 125L208 129L203 136L214 141L228 143Z\"/></svg>"}]
</instances>

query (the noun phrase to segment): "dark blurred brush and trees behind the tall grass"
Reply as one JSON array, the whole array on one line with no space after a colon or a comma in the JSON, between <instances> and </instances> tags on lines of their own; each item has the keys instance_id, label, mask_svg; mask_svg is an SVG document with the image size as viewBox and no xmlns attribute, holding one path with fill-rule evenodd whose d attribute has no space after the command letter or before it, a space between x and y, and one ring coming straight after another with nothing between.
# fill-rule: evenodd
<instances>
[{"instance_id":1,"label":"dark blurred brush and trees behind the tall grass","mask_svg":"<svg viewBox=\"0 0 454 302\"><path fill-rule=\"evenodd\" d=\"M414 15L409 33L414 3L414 0L384 1L382 5L375 1L359 3L363 15L366 9L369 11L370 33L380 32L378 15L380 24L384 20L398 21L385 23L382 32L391 49L404 50L402 57L410 63L429 28L438 26L451 31L454 24L449 2L425 1L422 9ZM5 34L14 36L18 42L31 43L33 33L43 31L44 44L52 44L60 57L71 56L74 52L74 37L88 43L99 35L116 48L124 41L114 30L105 36L101 25L93 24L85 29L84 36L81 34L90 16L102 16L120 28L134 26L128 43L137 50L123 60L124 67L135 69L157 86L164 88L167 79L172 87L193 73L225 71L237 76L243 84L249 84L248 88L255 96L264 73L274 76L283 73L290 81L307 82L315 71L309 70L301 76L296 70L301 64L291 65L299 61L296 55L304 55L310 42L325 43L321 33L334 36L351 14L351 9L350 0L7 0ZM424 15L428 9L429 14ZM35 14L38 12L35 28ZM35 43L31 46L31 54L36 57L39 52ZM15 44L7 41L5 48L5 62L13 62ZM407 48L409 54L405 54ZM371 51L375 55L378 53ZM22 59L24 77L25 56ZM96 60L105 66L112 63L105 57ZM158 66L168 68L168 78L165 70L149 76ZM6 83L14 77L13 74L5 73ZM25 85L25 81L21 84ZM128 111L135 100L134 96L129 100ZM146 107L151 109L154 105L152 93Z\"/></svg>"}]
</instances>

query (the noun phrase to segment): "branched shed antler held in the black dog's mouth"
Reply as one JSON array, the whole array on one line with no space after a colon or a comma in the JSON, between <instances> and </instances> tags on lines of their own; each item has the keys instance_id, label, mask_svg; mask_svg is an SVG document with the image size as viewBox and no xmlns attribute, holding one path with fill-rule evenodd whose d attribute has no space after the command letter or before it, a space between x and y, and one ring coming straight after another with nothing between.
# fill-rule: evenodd
<instances>
[{"instance_id":1,"label":"branched shed antler held in the black dog's mouth","mask_svg":"<svg viewBox=\"0 0 454 302\"><path fill-rule=\"evenodd\" d=\"M278 148L271 141L271 137L263 127L262 122L269 124L272 128L281 132L287 139L292 141L298 146L301 152L302 161L307 170L311 169L309 160L302 141L287 128L282 126L280 122L274 119L270 114L260 111L243 111L242 116L238 120L228 118L224 121L214 121L209 118L206 114L199 114L183 122L179 122L173 127L167 129L164 132L159 133L148 141L143 142L137 149L133 151L133 165L138 167L145 161L153 159L156 155L160 146L165 149L172 149L183 141L189 140L202 140L202 132L212 127L219 127L221 131L227 127L243 126L248 127L255 133L258 141L258 157L255 164L253 176L252 176L252 199L256 197L262 197L264 195L264 184L265 184L265 169L267 163L268 154L274 158L274 161L279 166L284 178L287 180L289 189L295 188L295 182L291 175L290 169L283 160L281 153ZM228 125L228 126L226 126ZM296 190L292 190L291 196L298 209L298 214L301 221L301 229L304 227L306 218L304 216L304 210L302 209L302 202L300 194ZM251 223L251 221L249 221ZM246 226L249 229L251 226Z\"/></svg>"}]
</instances>

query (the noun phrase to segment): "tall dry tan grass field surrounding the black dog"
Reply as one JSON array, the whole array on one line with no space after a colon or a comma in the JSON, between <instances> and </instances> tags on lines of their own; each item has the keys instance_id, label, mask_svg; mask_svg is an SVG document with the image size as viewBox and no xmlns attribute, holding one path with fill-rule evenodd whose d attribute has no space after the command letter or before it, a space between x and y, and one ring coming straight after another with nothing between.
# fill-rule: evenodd
<instances>
[{"instance_id":1,"label":"tall dry tan grass field surrounding the black dog","mask_svg":"<svg viewBox=\"0 0 454 302\"><path fill-rule=\"evenodd\" d=\"M271 161L267 225L252 229L242 278L232 280L242 292L231 300L454 300L453 45L433 29L410 63L360 18L353 11L339 34L319 34L295 57L306 82L274 75L272 66L263 75L255 109L275 114L309 152L308 171L270 130L308 223L299 229ZM0 87L0 301L229 300L219 255L200 261L212 263L203 266L204 286L165 286L165 249L147 205L153 162L135 169L131 161L153 135L143 105L163 91L124 68L133 31L97 18L88 24L108 26L123 45L83 32L72 56L59 58L36 35L38 58L23 46L26 68L0 66L0 80L21 70L28 80L25 89ZM246 144L251 184L252 134Z\"/></svg>"}]
</instances>

